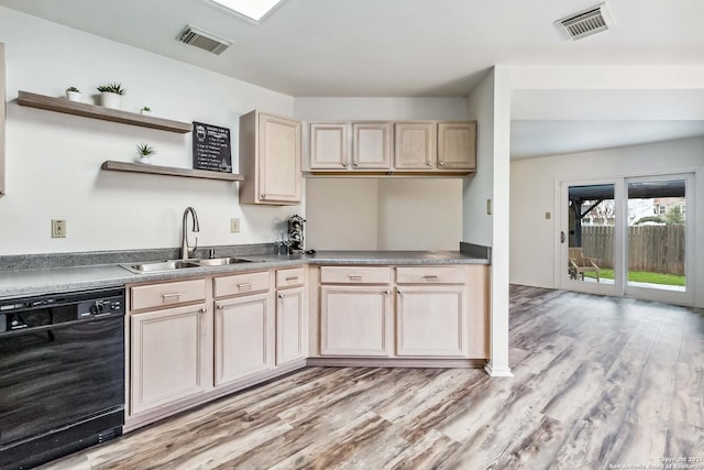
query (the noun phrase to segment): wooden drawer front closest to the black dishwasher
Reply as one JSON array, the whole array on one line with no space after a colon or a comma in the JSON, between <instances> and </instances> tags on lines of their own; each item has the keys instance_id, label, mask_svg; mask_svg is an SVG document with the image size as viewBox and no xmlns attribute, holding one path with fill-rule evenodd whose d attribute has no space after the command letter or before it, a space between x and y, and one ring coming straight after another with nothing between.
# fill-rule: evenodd
<instances>
[{"instance_id":1,"label":"wooden drawer front closest to the black dishwasher","mask_svg":"<svg viewBox=\"0 0 704 470\"><path fill-rule=\"evenodd\" d=\"M130 287L131 309L165 307L206 299L206 280Z\"/></svg>"}]
</instances>

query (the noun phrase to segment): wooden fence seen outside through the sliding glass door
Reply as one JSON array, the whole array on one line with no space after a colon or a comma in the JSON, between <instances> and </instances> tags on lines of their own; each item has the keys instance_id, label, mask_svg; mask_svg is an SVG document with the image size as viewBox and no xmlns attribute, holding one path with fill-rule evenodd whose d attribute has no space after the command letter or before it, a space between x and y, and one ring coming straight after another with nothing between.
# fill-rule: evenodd
<instances>
[{"instance_id":1,"label":"wooden fence seen outside through the sliding glass door","mask_svg":"<svg viewBox=\"0 0 704 470\"><path fill-rule=\"evenodd\" d=\"M614 267L613 227L582 227L582 247ZM684 275L684 225L628 227L628 270Z\"/></svg>"}]
</instances>

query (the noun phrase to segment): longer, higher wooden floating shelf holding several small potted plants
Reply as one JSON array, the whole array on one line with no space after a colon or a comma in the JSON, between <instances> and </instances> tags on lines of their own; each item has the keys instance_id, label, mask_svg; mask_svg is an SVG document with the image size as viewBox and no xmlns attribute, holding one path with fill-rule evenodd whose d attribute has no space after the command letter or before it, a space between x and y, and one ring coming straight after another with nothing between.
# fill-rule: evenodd
<instances>
[{"instance_id":1,"label":"longer, higher wooden floating shelf holding several small potted plants","mask_svg":"<svg viewBox=\"0 0 704 470\"><path fill-rule=\"evenodd\" d=\"M88 105L86 102L69 101L66 98L54 98L20 90L18 95L20 106L45 109L47 111L64 112L66 114L81 116L84 118L99 119L101 121L120 122L122 124L139 125L142 128L158 129L162 131L178 132L185 134L193 131L190 122L173 121L170 119L154 118L136 112L121 111L102 106Z\"/></svg>"}]
</instances>

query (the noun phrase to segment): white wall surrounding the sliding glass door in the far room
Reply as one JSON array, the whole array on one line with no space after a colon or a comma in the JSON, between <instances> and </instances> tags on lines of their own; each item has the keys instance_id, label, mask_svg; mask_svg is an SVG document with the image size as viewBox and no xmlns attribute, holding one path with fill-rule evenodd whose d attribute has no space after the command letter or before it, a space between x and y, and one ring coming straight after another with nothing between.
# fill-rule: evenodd
<instances>
[{"instance_id":1,"label":"white wall surrounding the sliding glass door in the far room","mask_svg":"<svg viewBox=\"0 0 704 470\"><path fill-rule=\"evenodd\" d=\"M554 243L559 233L559 217L554 210L559 204L556 200L556 185L560 181L648 176L702 168L704 139L701 138L513 161L510 282L558 287L554 278ZM697 186L702 184L704 182L695 182ZM695 189L701 194L701 188ZM695 209L700 219L704 217L702 209ZM552 214L550 220L546 220L544 212ZM704 238L704 226L700 222L697 228L696 239L701 240ZM698 253L698 258L703 254ZM696 286L700 288L695 286L695 292L703 289L702 281L698 281Z\"/></svg>"}]
</instances>

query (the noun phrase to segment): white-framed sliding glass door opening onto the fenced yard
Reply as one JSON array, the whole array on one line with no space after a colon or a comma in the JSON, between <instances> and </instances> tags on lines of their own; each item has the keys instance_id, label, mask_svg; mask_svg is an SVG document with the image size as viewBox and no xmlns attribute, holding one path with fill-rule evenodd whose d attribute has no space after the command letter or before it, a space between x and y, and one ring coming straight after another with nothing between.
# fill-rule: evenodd
<instances>
[{"instance_id":1,"label":"white-framed sliding glass door opening onto the fenced yard","mask_svg":"<svg viewBox=\"0 0 704 470\"><path fill-rule=\"evenodd\" d=\"M562 182L559 285L691 304L693 186L694 174Z\"/></svg>"}]
</instances>

